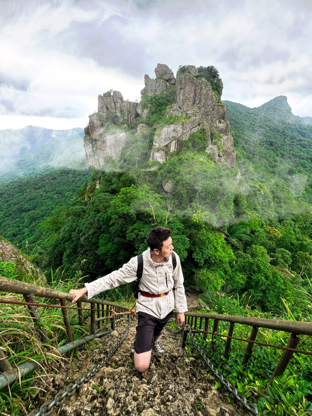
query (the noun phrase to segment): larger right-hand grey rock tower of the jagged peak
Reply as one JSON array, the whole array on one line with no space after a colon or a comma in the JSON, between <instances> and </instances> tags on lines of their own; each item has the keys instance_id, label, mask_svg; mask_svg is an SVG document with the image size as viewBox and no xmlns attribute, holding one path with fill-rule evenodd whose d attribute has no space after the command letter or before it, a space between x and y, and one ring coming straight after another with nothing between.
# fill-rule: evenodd
<instances>
[{"instance_id":1,"label":"larger right-hand grey rock tower of the jagged peak","mask_svg":"<svg viewBox=\"0 0 312 416\"><path fill-rule=\"evenodd\" d=\"M220 148L215 143L208 145L206 151L212 154L215 161L226 162L235 166L234 144L230 136L230 123L226 117L226 107L219 102L210 82L199 76L193 65L187 65L177 72L176 99L168 110L168 116L181 115L181 121L165 126L160 134L155 134L151 160L166 161L168 151L178 151L180 141L185 140L200 127L206 127L208 133L215 131L221 135ZM156 68L157 69L157 68ZM155 73L156 73L155 69ZM149 88L146 85L146 90ZM170 87L169 82L167 82ZM144 90L143 90L144 91Z\"/></svg>"}]
</instances>

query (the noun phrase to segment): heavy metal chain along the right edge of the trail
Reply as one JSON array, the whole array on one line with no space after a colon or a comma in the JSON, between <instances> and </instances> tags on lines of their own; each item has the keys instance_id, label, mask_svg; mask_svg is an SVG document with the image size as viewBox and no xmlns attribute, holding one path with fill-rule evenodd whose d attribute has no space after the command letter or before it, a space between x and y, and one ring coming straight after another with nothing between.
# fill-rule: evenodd
<instances>
[{"instance_id":1,"label":"heavy metal chain along the right edge of the trail","mask_svg":"<svg viewBox=\"0 0 312 416\"><path fill-rule=\"evenodd\" d=\"M235 387L232 387L230 385L230 382L227 379L223 378L222 374L219 374L218 370L213 366L213 364L210 362L210 360L206 357L205 352L203 352L201 347L198 345L198 342L197 342L196 338L192 334L191 328L188 325L185 325L184 328L188 332L188 335L191 337L191 339L194 343L194 347L201 354L203 359L206 361L206 364L208 365L210 370L215 374L215 377L220 381L220 383L223 385L225 390L227 390L233 397L235 397L235 399L238 401L238 403L240 404L240 406L243 409L247 410L253 416L259 416L257 406L255 406L255 404L247 403L246 397L243 396L243 394L238 393L237 389L235 389Z\"/></svg>"}]
</instances>

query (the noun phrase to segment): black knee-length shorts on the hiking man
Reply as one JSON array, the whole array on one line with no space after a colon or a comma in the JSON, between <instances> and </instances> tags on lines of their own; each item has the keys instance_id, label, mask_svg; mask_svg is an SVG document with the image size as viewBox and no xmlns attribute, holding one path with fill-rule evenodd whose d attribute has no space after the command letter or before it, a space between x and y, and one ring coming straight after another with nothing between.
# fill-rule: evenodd
<instances>
[{"instance_id":1,"label":"black knee-length shorts on the hiking man","mask_svg":"<svg viewBox=\"0 0 312 416\"><path fill-rule=\"evenodd\" d=\"M134 342L136 354L151 351L153 338L158 337L172 315L173 310L163 319L158 319L148 313L138 312L138 325L136 327L136 340Z\"/></svg>"}]
</instances>

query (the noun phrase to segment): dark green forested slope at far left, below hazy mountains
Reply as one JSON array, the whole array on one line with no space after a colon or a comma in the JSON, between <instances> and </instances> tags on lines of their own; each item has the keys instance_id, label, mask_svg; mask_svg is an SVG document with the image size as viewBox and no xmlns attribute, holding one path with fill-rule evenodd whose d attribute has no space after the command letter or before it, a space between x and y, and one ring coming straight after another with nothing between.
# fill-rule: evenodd
<instances>
[{"instance_id":1,"label":"dark green forested slope at far left, below hazy mountains","mask_svg":"<svg viewBox=\"0 0 312 416\"><path fill-rule=\"evenodd\" d=\"M33 250L40 240L42 221L76 198L90 176L87 170L50 168L40 175L0 184L1 235L25 253Z\"/></svg>"}]
</instances>

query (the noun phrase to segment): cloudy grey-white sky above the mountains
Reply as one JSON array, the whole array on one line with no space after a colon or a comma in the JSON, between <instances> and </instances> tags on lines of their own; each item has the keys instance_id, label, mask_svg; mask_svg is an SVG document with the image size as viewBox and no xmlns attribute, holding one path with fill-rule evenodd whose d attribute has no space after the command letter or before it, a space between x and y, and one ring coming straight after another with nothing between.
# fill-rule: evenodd
<instances>
[{"instance_id":1,"label":"cloudy grey-white sky above the mountains","mask_svg":"<svg viewBox=\"0 0 312 416\"><path fill-rule=\"evenodd\" d=\"M223 99L312 116L311 0L0 0L0 130L84 127L158 62L214 65Z\"/></svg>"}]
</instances>

